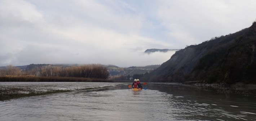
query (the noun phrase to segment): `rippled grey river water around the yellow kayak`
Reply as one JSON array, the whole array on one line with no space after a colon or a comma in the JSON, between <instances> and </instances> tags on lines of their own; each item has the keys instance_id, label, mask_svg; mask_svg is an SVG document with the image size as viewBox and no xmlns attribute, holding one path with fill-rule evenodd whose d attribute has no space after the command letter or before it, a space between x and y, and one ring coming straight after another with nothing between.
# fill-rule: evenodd
<instances>
[{"instance_id":1,"label":"rippled grey river water around the yellow kayak","mask_svg":"<svg viewBox=\"0 0 256 121\"><path fill-rule=\"evenodd\" d=\"M150 83L0 102L0 121L255 121L254 92Z\"/></svg>"}]
</instances>

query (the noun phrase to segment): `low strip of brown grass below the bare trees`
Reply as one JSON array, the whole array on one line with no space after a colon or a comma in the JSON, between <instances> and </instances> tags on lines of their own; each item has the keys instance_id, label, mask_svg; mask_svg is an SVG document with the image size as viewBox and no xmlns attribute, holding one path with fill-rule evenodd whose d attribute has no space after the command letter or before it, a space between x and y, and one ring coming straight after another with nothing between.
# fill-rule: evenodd
<instances>
[{"instance_id":1,"label":"low strip of brown grass below the bare trees","mask_svg":"<svg viewBox=\"0 0 256 121\"><path fill-rule=\"evenodd\" d=\"M113 82L113 80L59 76L0 76L0 82Z\"/></svg>"}]
</instances>

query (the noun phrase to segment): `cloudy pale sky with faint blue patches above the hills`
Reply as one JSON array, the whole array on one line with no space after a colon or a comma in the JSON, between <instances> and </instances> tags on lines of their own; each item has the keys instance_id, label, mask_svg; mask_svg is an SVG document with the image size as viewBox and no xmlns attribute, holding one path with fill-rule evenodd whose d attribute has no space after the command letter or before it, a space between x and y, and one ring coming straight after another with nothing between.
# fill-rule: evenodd
<instances>
[{"instance_id":1,"label":"cloudy pale sky with faint blue patches above the hills","mask_svg":"<svg viewBox=\"0 0 256 121\"><path fill-rule=\"evenodd\" d=\"M256 0L0 0L0 66L158 65L250 27Z\"/></svg>"}]
</instances>

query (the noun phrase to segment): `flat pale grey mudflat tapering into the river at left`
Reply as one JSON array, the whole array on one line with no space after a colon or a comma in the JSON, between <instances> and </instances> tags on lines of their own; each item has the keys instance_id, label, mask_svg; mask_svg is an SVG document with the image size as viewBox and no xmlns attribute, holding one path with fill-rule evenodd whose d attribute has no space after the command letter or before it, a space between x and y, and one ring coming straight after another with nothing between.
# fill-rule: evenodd
<instances>
[{"instance_id":1,"label":"flat pale grey mudflat tapering into the river at left","mask_svg":"<svg viewBox=\"0 0 256 121\"><path fill-rule=\"evenodd\" d=\"M0 82L0 101L122 85L104 82Z\"/></svg>"}]
</instances>

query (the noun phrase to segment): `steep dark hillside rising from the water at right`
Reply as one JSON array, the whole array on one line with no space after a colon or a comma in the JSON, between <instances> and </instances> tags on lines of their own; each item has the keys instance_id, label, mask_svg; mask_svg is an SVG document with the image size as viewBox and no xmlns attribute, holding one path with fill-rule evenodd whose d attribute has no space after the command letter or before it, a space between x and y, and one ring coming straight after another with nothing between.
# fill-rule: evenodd
<instances>
[{"instance_id":1,"label":"steep dark hillside rising from the water at right","mask_svg":"<svg viewBox=\"0 0 256 121\"><path fill-rule=\"evenodd\" d=\"M152 71L150 82L256 83L256 22L239 32L176 51Z\"/></svg>"}]
</instances>

